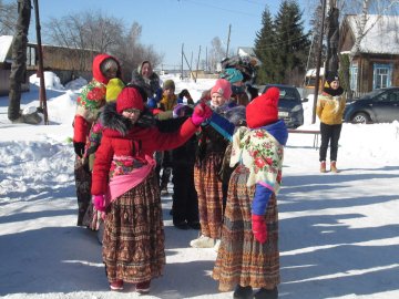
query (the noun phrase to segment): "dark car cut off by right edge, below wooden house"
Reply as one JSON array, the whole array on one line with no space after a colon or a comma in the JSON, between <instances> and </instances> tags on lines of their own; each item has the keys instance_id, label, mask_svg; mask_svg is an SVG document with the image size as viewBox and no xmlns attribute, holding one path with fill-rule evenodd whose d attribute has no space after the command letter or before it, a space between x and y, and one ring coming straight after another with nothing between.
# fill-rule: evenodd
<instances>
[{"instance_id":1,"label":"dark car cut off by right edge, below wooden house","mask_svg":"<svg viewBox=\"0 0 399 299\"><path fill-rule=\"evenodd\" d=\"M347 103L344 121L352 123L391 123L399 121L399 87L375 90Z\"/></svg>"}]
</instances>

